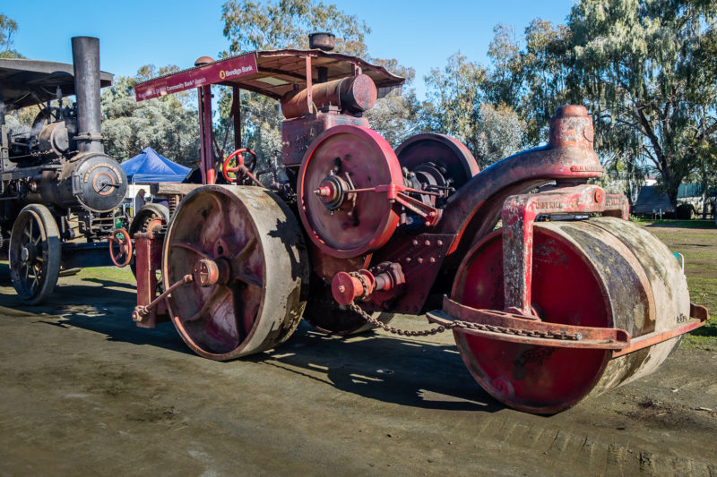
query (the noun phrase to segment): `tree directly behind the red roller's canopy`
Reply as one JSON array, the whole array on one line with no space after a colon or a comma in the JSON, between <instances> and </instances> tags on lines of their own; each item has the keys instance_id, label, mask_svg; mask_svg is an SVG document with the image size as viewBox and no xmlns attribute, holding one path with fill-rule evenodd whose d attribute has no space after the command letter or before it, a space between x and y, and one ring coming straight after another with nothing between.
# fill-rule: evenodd
<instances>
[{"instance_id":1,"label":"tree directly behind the red roller's canopy","mask_svg":"<svg viewBox=\"0 0 717 477\"><path fill-rule=\"evenodd\" d=\"M223 55L235 55L244 51L308 48L308 34L331 31L336 36L337 53L356 55L368 62L381 64L390 72L404 76L407 94L403 97L380 99L367 111L372 127L382 133L395 147L406 135L416 130L417 101L410 89L414 76L411 69L404 68L396 60L371 58L364 44L370 32L367 24L356 15L341 12L334 4L315 0L279 0L255 2L229 0L222 6L224 36L229 39L229 51ZM231 132L222 130L229 124L231 96L228 89L220 93L220 124L218 136L226 136L231 143ZM281 157L280 125L283 116L276 101L250 91L241 92L242 139L255 150L264 163Z\"/></svg>"}]
</instances>

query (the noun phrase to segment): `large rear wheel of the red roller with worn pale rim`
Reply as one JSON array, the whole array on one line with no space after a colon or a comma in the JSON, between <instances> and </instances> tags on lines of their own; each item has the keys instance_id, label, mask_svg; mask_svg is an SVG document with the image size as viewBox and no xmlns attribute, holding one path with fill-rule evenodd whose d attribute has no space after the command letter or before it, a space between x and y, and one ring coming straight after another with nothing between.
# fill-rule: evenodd
<instances>
[{"instance_id":1,"label":"large rear wheel of the red roller with worn pale rim","mask_svg":"<svg viewBox=\"0 0 717 477\"><path fill-rule=\"evenodd\" d=\"M186 195L162 254L177 331L213 360L259 353L285 341L304 311L306 244L296 218L257 187L207 185ZM306 290L306 288L304 289Z\"/></svg>"}]
</instances>

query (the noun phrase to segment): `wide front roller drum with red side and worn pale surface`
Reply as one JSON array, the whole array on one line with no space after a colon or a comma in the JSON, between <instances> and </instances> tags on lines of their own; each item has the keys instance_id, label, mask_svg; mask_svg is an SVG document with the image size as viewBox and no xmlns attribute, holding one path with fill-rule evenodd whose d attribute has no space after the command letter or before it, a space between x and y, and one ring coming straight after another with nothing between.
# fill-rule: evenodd
<instances>
[{"instance_id":1,"label":"wide front roller drum with red side and worn pale surface","mask_svg":"<svg viewBox=\"0 0 717 477\"><path fill-rule=\"evenodd\" d=\"M535 224L532 273L532 306L544 321L623 328L635 338L677 328L689 316L678 261L652 234L618 218ZM466 256L452 298L504 309L500 231ZM557 413L638 379L657 369L681 339L613 358L612 351L524 345L460 329L454 336L480 386L531 413Z\"/></svg>"}]
</instances>

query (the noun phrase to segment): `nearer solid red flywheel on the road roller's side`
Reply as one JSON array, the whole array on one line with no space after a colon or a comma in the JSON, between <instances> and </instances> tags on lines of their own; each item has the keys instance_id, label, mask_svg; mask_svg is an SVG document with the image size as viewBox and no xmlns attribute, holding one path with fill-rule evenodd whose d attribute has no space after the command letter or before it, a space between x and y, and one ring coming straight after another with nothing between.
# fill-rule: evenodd
<instances>
[{"instance_id":1,"label":"nearer solid red flywheel on the road roller's side","mask_svg":"<svg viewBox=\"0 0 717 477\"><path fill-rule=\"evenodd\" d=\"M402 185L393 149L377 132L340 125L311 143L298 175L298 211L322 251L350 258L383 246L399 217L386 192L351 192ZM319 194L319 191L323 195Z\"/></svg>"}]
</instances>

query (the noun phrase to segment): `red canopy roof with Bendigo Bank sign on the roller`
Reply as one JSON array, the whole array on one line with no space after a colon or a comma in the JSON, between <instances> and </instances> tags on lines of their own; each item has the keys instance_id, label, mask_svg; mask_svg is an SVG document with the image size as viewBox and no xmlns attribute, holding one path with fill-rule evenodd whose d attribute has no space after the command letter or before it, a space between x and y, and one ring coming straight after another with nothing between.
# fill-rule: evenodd
<instances>
[{"instance_id":1,"label":"red canopy roof with Bendigo Bank sign on the roller","mask_svg":"<svg viewBox=\"0 0 717 477\"><path fill-rule=\"evenodd\" d=\"M406 81L386 71L383 66L369 64L356 56L327 53L318 49L285 49L230 56L144 81L137 84L134 91L137 101L142 101L207 84L221 84L279 99L293 89L307 87L307 57L311 59L312 76L317 74L317 68L324 67L327 81L352 76L360 68L376 83L378 98L384 98L393 89L399 89Z\"/></svg>"}]
</instances>

